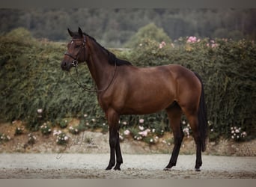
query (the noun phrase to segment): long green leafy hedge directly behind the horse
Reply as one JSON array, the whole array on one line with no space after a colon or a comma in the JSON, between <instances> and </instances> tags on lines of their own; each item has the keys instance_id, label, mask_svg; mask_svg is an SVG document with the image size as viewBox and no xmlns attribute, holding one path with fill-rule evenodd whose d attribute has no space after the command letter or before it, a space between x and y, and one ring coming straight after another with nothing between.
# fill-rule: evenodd
<instances>
[{"instance_id":1,"label":"long green leafy hedge directly behind the horse","mask_svg":"<svg viewBox=\"0 0 256 187\"><path fill-rule=\"evenodd\" d=\"M205 87L210 138L231 138L233 126L241 127L248 138L254 138L255 43L207 38L187 43L187 39L180 38L161 47L154 40L142 40L135 49L112 51L135 66L182 64L199 73ZM61 70L66 49L67 43L35 40L23 28L0 37L1 120L25 120L30 129L38 129L46 120L57 123L64 117L79 117L83 122L93 120L92 127L106 123L95 94L79 89L69 74ZM79 73L83 84L94 86L85 64L79 66ZM42 114L37 113L39 108L43 109ZM168 130L165 112L123 116L121 122L138 125L139 118L144 118L144 126L159 132Z\"/></svg>"}]
</instances>

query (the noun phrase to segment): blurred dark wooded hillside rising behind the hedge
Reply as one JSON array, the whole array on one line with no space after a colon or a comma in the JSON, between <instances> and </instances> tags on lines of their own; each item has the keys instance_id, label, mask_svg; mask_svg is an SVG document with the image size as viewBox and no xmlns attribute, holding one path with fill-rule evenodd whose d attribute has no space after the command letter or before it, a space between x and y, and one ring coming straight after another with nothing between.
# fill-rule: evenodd
<instances>
[{"instance_id":1,"label":"blurred dark wooded hillside rising behind the hedge","mask_svg":"<svg viewBox=\"0 0 256 187\"><path fill-rule=\"evenodd\" d=\"M37 38L67 40L79 26L108 47L124 46L138 29L154 23L171 40L180 37L256 39L255 9L0 9L0 32L23 27Z\"/></svg>"}]
</instances>

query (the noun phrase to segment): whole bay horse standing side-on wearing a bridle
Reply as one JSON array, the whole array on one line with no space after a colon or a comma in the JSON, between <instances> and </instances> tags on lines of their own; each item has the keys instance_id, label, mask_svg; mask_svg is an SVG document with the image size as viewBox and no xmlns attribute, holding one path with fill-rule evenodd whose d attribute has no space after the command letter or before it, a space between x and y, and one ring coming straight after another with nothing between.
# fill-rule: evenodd
<instances>
[{"instance_id":1,"label":"whole bay horse standing side-on wearing a bridle","mask_svg":"<svg viewBox=\"0 0 256 187\"><path fill-rule=\"evenodd\" d=\"M72 39L61 62L69 71L86 62L96 85L97 99L109 123L110 160L106 170L121 170L119 117L124 114L152 114L165 109L174 134L174 148L165 170L176 165L183 141L182 114L186 115L196 144L195 171L202 165L206 149L207 114L204 88L197 73L177 64L139 68L116 58L100 43L82 32L67 29Z\"/></svg>"}]
</instances>

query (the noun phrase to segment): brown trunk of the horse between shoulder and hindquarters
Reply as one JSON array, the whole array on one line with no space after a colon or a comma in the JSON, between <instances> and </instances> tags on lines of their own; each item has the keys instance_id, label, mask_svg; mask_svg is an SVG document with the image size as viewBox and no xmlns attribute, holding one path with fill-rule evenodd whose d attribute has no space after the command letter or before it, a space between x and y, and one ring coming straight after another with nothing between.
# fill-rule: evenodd
<instances>
[{"instance_id":1,"label":"brown trunk of the horse between shoulder and hindquarters","mask_svg":"<svg viewBox=\"0 0 256 187\"><path fill-rule=\"evenodd\" d=\"M112 100L120 114L152 114L175 99L176 85L168 66L130 70L127 77Z\"/></svg>"}]
</instances>

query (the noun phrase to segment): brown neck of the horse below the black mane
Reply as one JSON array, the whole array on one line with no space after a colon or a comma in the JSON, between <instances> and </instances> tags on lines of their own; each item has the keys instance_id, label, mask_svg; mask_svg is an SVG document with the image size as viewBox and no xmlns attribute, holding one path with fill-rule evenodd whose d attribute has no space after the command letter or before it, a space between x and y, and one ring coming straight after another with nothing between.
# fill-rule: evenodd
<instances>
[{"instance_id":1,"label":"brown neck of the horse below the black mane","mask_svg":"<svg viewBox=\"0 0 256 187\"><path fill-rule=\"evenodd\" d=\"M98 90L106 88L109 84L114 67L109 64L109 55L94 41L88 45L88 69L97 85Z\"/></svg>"}]
</instances>

